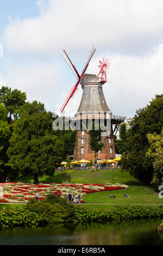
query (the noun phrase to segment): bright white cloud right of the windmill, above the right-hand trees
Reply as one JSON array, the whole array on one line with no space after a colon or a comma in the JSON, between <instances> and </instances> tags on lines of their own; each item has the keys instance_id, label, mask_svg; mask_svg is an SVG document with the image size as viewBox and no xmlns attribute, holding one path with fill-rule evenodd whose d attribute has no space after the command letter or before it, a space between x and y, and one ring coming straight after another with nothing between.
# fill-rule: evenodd
<instances>
[{"instance_id":1,"label":"bright white cloud right of the windmill, above the right-hand trees","mask_svg":"<svg viewBox=\"0 0 163 256\"><path fill-rule=\"evenodd\" d=\"M140 57L105 54L111 61L108 81L103 86L106 102L113 114L133 116L145 107L155 94L162 93L163 44L151 54ZM98 74L98 60L93 59L87 72Z\"/></svg>"}]
</instances>

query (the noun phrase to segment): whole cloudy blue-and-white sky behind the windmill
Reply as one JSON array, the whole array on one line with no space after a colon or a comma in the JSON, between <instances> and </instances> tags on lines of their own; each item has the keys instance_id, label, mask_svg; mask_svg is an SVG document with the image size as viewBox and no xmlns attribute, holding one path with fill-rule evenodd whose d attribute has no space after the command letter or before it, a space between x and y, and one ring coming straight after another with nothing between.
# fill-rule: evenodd
<instances>
[{"instance_id":1,"label":"whole cloudy blue-and-white sky behind the windmill","mask_svg":"<svg viewBox=\"0 0 163 256\"><path fill-rule=\"evenodd\" d=\"M132 118L162 93L162 0L0 0L0 12L0 86L27 101L58 113L76 83L62 50L81 73L93 45L86 73L98 75L109 58L103 91L112 114ZM81 97L79 85L74 112Z\"/></svg>"}]
</instances>

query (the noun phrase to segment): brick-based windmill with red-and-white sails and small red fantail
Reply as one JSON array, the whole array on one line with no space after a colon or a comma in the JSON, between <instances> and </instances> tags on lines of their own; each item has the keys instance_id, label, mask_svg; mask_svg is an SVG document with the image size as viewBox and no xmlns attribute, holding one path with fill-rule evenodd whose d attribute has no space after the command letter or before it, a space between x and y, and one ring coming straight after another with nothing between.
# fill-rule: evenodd
<instances>
[{"instance_id":1,"label":"brick-based windmill with red-and-white sails and small red fantail","mask_svg":"<svg viewBox=\"0 0 163 256\"><path fill-rule=\"evenodd\" d=\"M99 74L85 74L86 69L90 63L90 60L95 53L96 49L93 47L89 59L84 66L82 74L79 75L77 69L72 64L70 58L68 57L65 50L62 53L62 57L66 60L70 68L74 72L74 75L77 78L77 83L71 89L70 94L68 94L67 99L64 102L64 105L61 107L60 112L63 113L65 107L68 107L68 104L73 103L73 96L76 93L79 83L83 89L82 99L78 111L76 113L76 122L78 123L77 129L77 141L74 150L74 161L76 160L94 160L95 152L91 151L89 144L89 133L88 125L90 120L99 120L102 119L104 125L107 123L107 120L110 120L110 132L105 133L105 136L102 136L102 142L104 143L104 148L98 152L98 160L108 160L115 158L115 144L113 138L113 129L111 123L111 112L105 101L103 94L103 84L107 82L106 80L106 71L110 68L110 62L108 59L99 61ZM110 114L109 114L110 113ZM116 126L117 128L117 126ZM115 129L114 129L115 130Z\"/></svg>"}]
</instances>

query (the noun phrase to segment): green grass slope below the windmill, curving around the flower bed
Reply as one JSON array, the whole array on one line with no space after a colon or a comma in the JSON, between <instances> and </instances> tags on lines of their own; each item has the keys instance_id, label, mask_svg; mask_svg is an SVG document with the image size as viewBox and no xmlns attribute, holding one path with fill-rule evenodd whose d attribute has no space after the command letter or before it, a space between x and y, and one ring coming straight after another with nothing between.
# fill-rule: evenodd
<instances>
[{"instance_id":1,"label":"green grass slope below the windmill, curving around the flower bed","mask_svg":"<svg viewBox=\"0 0 163 256\"><path fill-rule=\"evenodd\" d=\"M128 172L121 173L120 169L100 170L96 173L91 172L91 170L76 170L72 173L57 171L51 179L48 176L39 178L40 182L64 182L65 180L81 184L111 182L111 184L120 183L129 186L123 190L86 194L82 199L88 204L83 204L83 206L91 209L110 209L113 204L163 204L163 199L158 197L158 192L154 191L151 186L136 180ZM31 177L24 177L15 181L34 182ZM127 193L130 198L125 198L124 193ZM109 198L110 194L116 198Z\"/></svg>"}]
</instances>

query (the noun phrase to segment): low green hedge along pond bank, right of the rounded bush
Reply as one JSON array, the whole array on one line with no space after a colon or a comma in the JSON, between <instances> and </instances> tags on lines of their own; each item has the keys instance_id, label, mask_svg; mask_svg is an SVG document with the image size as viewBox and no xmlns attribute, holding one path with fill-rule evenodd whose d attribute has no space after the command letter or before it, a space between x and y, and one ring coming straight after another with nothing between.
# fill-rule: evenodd
<instances>
[{"instance_id":1,"label":"low green hedge along pond bank, right of the rounded bush","mask_svg":"<svg viewBox=\"0 0 163 256\"><path fill-rule=\"evenodd\" d=\"M76 222L103 222L103 221L124 221L139 220L141 218L159 218L163 216L163 206L120 206L107 211L87 210L77 206L74 220Z\"/></svg>"}]
</instances>

